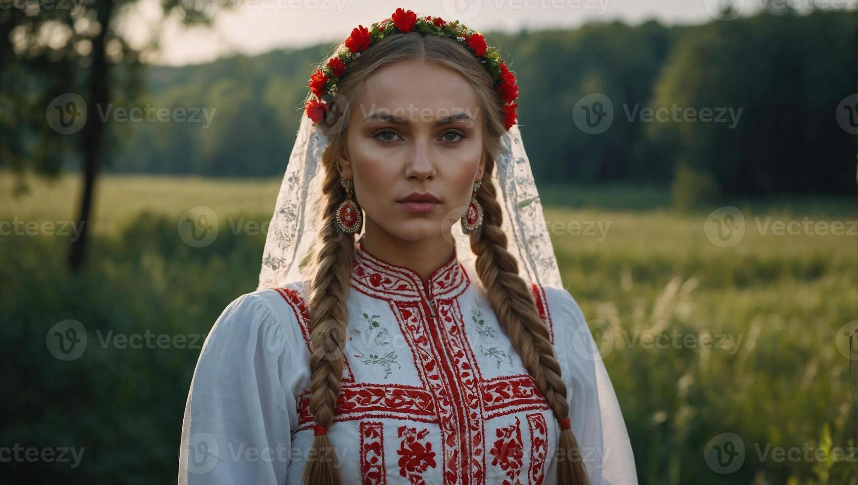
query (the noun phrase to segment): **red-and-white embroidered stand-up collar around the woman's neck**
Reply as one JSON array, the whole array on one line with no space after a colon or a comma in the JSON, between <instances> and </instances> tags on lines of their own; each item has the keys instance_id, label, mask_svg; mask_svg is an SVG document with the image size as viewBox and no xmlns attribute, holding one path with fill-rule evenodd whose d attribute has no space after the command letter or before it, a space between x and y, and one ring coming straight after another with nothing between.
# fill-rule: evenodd
<instances>
[{"instance_id":1,"label":"red-and-white embroidered stand-up collar around the woman's neck","mask_svg":"<svg viewBox=\"0 0 858 485\"><path fill-rule=\"evenodd\" d=\"M412 301L426 298L454 298L468 288L470 278L456 258L456 248L446 263L432 271L424 286L417 271L390 264L364 249L361 239L354 243L352 286L384 300Z\"/></svg>"}]
</instances>

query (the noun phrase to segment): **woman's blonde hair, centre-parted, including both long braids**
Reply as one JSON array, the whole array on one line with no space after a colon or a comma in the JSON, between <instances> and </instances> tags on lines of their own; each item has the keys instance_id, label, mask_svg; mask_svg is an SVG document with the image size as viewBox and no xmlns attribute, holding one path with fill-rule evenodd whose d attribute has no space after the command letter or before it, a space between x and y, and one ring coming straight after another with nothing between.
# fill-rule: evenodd
<instances>
[{"instance_id":1,"label":"woman's blonde hair, centre-parted, including both long braids","mask_svg":"<svg viewBox=\"0 0 858 485\"><path fill-rule=\"evenodd\" d=\"M344 45L343 42L336 46L334 52L340 52ZM413 59L447 66L474 88L480 110L484 113L486 153L486 170L477 192L485 215L480 228L470 234L471 250L476 255L476 271L501 329L510 338L536 388L561 421L569 416L569 405L549 330L539 317L529 284L518 276L516 259L507 251L507 239L500 228L502 215L497 192L492 185L492 170L505 127L503 100L493 87L492 76L472 52L453 39L420 32L394 33L370 46L349 64L347 75L337 83L334 104L341 102L347 106L375 70L397 61ZM348 318L346 298L353 271L354 235L342 233L335 224L336 208L346 198L346 192L340 185L337 161L346 143L344 126L347 117L348 110L331 109L319 124L328 134L329 144L322 156L323 202L319 208L322 221L318 244L311 257L314 269L308 307L313 349L310 357L310 410L317 425L323 427L329 427L334 421L340 393L342 349L345 347ZM354 196L359 198L360 194L355 193ZM560 432L557 455L568 458L559 460L560 484L588 483L571 429ZM341 480L334 465L334 456L328 436L316 436L304 470L305 485L339 485Z\"/></svg>"}]
</instances>

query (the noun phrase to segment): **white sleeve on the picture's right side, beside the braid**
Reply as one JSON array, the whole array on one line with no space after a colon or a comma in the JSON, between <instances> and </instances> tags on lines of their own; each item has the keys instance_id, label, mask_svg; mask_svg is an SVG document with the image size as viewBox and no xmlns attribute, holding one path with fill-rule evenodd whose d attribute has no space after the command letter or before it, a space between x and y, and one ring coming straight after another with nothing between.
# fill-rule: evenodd
<instances>
[{"instance_id":1,"label":"white sleeve on the picture's right side, beside the braid","mask_svg":"<svg viewBox=\"0 0 858 485\"><path fill-rule=\"evenodd\" d=\"M581 448L592 485L637 485L635 459L622 410L599 349L581 312L565 289L555 288L559 317L555 332L563 346L570 386L571 430ZM558 331L562 328L562 331Z\"/></svg>"}]
</instances>

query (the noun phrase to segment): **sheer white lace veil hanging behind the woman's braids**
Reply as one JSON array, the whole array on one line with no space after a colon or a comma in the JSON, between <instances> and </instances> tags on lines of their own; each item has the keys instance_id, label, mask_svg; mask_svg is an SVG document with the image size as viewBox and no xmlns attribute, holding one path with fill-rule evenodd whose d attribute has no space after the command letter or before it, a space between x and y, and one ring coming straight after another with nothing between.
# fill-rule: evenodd
<instances>
[{"instance_id":1,"label":"sheer white lace veil hanging behind the woman's braids","mask_svg":"<svg viewBox=\"0 0 858 485\"><path fill-rule=\"evenodd\" d=\"M313 126L310 118L302 116L265 239L257 289L312 279L308 274L312 264L306 264L305 258L318 232L320 217L316 212L320 207L324 177L321 161L327 144L328 136ZM519 276L525 282L563 288L542 215L542 203L517 124L505 131L500 145L492 182L498 189L498 203L503 210L501 225L508 239L508 250L518 261ZM360 194L357 195L360 199ZM473 269L476 256L471 252L468 235L462 233L458 223L453 224L452 233L456 257Z\"/></svg>"}]
</instances>

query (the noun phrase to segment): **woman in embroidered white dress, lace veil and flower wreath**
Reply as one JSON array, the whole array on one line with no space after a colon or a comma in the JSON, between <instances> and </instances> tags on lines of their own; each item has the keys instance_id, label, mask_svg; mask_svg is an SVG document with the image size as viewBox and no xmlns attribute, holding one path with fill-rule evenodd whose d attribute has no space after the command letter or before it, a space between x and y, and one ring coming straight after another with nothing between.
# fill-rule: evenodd
<instances>
[{"instance_id":1,"label":"woman in embroidered white dress, lace veil and flower wreath","mask_svg":"<svg viewBox=\"0 0 858 485\"><path fill-rule=\"evenodd\" d=\"M637 483L498 51L397 9L309 86L260 288L196 366L179 482Z\"/></svg>"}]
</instances>

